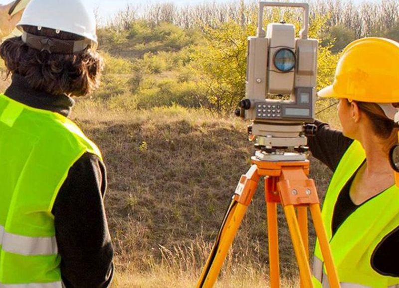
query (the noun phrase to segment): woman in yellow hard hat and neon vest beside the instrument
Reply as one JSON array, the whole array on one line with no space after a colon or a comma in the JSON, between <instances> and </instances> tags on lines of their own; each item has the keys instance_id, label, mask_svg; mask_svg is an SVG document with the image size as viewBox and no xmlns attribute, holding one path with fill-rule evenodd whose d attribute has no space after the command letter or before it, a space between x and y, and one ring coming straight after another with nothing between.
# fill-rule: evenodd
<instances>
[{"instance_id":1,"label":"woman in yellow hard hat and neon vest beside the instrument","mask_svg":"<svg viewBox=\"0 0 399 288\"><path fill-rule=\"evenodd\" d=\"M320 97L339 99L342 131L316 121L313 156L333 172L322 216L345 288L399 287L399 188L390 164L398 143L399 43L363 38L349 44L333 85ZM315 287L328 287L319 243Z\"/></svg>"}]
</instances>

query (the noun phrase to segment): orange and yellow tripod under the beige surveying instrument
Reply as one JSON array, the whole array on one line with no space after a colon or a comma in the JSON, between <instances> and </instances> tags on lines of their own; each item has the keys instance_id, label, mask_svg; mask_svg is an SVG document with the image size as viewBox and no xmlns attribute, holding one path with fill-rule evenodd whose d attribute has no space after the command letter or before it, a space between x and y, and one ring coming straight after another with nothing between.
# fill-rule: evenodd
<instances>
[{"instance_id":1,"label":"orange and yellow tripod under the beige surveying instrument","mask_svg":"<svg viewBox=\"0 0 399 288\"><path fill-rule=\"evenodd\" d=\"M282 156L284 158L284 156ZM252 166L241 176L231 204L223 219L216 242L200 276L197 288L211 288L217 280L228 249L252 201L260 178L265 177L265 199L270 258L270 286L280 287L277 204L281 203L287 219L302 288L313 288L309 266L307 208L309 207L331 288L339 288L330 246L320 211L314 181L308 178L309 161L264 161L252 157ZM296 215L295 208L297 208Z\"/></svg>"}]
</instances>

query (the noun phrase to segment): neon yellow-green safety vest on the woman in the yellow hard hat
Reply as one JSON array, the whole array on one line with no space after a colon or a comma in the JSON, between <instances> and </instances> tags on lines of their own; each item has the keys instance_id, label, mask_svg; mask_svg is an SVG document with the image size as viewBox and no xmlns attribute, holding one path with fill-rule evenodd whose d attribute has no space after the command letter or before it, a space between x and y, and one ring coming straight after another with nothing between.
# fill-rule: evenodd
<instances>
[{"instance_id":1,"label":"neon yellow-green safety vest on the woman in the yellow hard hat","mask_svg":"<svg viewBox=\"0 0 399 288\"><path fill-rule=\"evenodd\" d=\"M333 175L322 211L327 237L342 288L399 288L399 278L379 274L371 263L378 245L399 226L398 187L394 185L362 204L332 235L337 198L365 159L362 145L355 141ZM313 284L316 288L329 287L318 241L313 260Z\"/></svg>"}]
</instances>

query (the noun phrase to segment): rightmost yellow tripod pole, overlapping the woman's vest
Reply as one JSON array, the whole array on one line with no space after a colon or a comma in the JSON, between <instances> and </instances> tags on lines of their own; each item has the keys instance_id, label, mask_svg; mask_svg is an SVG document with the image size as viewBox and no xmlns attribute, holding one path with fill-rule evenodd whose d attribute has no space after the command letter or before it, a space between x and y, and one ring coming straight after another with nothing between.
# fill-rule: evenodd
<instances>
[{"instance_id":1,"label":"rightmost yellow tripod pole, overlapping the woman's vest","mask_svg":"<svg viewBox=\"0 0 399 288\"><path fill-rule=\"evenodd\" d=\"M338 273L334 265L333 256L330 245L327 239L327 233L324 229L323 220L321 216L319 204L311 204L310 212L312 214L313 223L316 230L317 238L319 239L320 249L323 255L324 264L327 270L328 281L331 288L340 288L338 280Z\"/></svg>"}]
</instances>

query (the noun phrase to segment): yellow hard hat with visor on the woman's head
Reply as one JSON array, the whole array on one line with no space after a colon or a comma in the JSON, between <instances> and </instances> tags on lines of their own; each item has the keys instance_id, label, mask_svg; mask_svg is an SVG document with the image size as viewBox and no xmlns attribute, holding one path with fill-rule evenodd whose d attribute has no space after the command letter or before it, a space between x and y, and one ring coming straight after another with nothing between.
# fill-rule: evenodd
<instances>
[{"instance_id":1,"label":"yellow hard hat with visor on the woman's head","mask_svg":"<svg viewBox=\"0 0 399 288\"><path fill-rule=\"evenodd\" d=\"M376 37L352 42L338 62L333 85L318 96L399 102L399 43Z\"/></svg>"}]
</instances>

